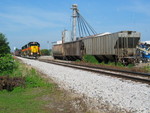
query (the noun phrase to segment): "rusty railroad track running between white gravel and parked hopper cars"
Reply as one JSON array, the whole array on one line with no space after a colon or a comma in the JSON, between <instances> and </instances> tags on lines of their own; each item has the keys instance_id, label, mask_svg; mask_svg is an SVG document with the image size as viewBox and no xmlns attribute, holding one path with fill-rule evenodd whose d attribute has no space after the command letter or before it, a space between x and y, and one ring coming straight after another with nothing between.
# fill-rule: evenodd
<instances>
[{"instance_id":1,"label":"rusty railroad track running between white gravel and parked hopper cars","mask_svg":"<svg viewBox=\"0 0 150 113\"><path fill-rule=\"evenodd\" d=\"M73 64L70 62L63 62L63 61L56 61L56 60L40 59L39 61L66 66L66 67L71 67L71 68L76 68L76 69L81 69L81 70L86 70L86 71L91 71L95 73L103 73L109 76L115 76L119 78L130 79L130 80L150 84L149 73L140 73L140 72L117 70L117 69L110 69L110 68L103 68L103 67L87 66L87 65Z\"/></svg>"}]
</instances>

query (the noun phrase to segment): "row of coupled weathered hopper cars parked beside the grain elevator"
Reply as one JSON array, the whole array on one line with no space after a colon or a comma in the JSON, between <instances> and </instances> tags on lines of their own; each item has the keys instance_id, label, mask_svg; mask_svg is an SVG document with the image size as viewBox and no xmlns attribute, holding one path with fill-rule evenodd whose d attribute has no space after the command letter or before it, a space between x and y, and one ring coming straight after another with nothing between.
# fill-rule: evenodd
<instances>
[{"instance_id":1,"label":"row of coupled weathered hopper cars parked beside the grain elevator","mask_svg":"<svg viewBox=\"0 0 150 113\"><path fill-rule=\"evenodd\" d=\"M137 62L136 46L140 33L120 31L112 34L85 37L73 42L54 45L54 58L82 59L83 55L93 55L99 61Z\"/></svg>"}]
</instances>

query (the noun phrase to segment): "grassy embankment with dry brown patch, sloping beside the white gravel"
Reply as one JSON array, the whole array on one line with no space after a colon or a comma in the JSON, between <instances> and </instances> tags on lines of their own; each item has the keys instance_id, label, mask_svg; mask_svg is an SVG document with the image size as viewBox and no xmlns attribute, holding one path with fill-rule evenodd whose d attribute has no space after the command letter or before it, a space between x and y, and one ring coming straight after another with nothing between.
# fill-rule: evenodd
<instances>
[{"instance_id":1,"label":"grassy embankment with dry brown patch, sloping beside the white gravel","mask_svg":"<svg viewBox=\"0 0 150 113\"><path fill-rule=\"evenodd\" d=\"M74 113L66 92L35 69L18 63L10 77L24 77L25 85L0 91L0 113ZM46 76L45 76L46 77Z\"/></svg>"}]
</instances>

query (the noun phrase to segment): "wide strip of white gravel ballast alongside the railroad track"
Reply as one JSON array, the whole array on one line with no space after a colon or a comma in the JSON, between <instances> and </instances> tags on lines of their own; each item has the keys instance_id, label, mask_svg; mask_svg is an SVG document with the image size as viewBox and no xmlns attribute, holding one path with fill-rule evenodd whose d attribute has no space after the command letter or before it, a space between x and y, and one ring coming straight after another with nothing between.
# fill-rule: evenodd
<instances>
[{"instance_id":1,"label":"wide strip of white gravel ballast alongside the railroad track","mask_svg":"<svg viewBox=\"0 0 150 113\"><path fill-rule=\"evenodd\" d=\"M19 58L52 78L64 89L85 95L97 109L150 113L150 86L69 67ZM106 107L107 106L107 107ZM106 109L107 108L107 109ZM113 110L112 110L113 109Z\"/></svg>"}]
</instances>

